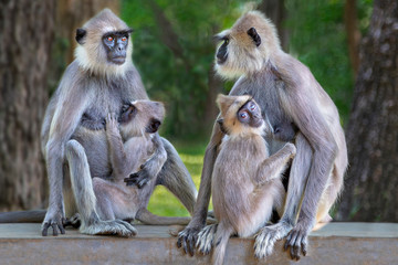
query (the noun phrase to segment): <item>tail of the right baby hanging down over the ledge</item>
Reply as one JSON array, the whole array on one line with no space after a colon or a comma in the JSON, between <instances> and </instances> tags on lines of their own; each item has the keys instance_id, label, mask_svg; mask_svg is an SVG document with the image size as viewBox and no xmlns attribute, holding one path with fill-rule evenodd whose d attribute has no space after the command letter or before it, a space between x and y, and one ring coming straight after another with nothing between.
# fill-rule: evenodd
<instances>
[{"instance_id":1,"label":"tail of the right baby hanging down over the ledge","mask_svg":"<svg viewBox=\"0 0 398 265\"><path fill-rule=\"evenodd\" d=\"M233 233L233 227L231 225L226 224L223 222L219 223L216 232L214 252L211 258L212 264L221 265L223 263L227 244L232 233Z\"/></svg>"}]
</instances>

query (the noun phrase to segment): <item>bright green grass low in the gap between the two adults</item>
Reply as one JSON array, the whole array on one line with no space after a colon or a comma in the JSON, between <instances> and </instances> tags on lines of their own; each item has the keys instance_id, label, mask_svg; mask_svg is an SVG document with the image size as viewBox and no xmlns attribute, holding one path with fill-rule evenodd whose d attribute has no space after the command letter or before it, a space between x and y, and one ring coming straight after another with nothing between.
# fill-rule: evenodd
<instances>
[{"instance_id":1,"label":"bright green grass low in the gap between the two adults","mask_svg":"<svg viewBox=\"0 0 398 265\"><path fill-rule=\"evenodd\" d=\"M172 142L199 190L207 142ZM148 210L161 216L189 216L188 211L165 187L157 186L149 200Z\"/></svg>"}]
</instances>

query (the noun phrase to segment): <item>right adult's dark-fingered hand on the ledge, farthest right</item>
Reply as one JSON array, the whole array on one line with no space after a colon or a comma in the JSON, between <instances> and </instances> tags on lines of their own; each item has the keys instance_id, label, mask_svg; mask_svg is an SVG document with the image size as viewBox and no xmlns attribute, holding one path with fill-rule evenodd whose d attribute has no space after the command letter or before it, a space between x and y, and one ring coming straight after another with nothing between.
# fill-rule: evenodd
<instances>
[{"instance_id":1,"label":"right adult's dark-fingered hand on the ledge, farthest right","mask_svg":"<svg viewBox=\"0 0 398 265\"><path fill-rule=\"evenodd\" d=\"M308 245L308 230L301 227L298 223L296 226L289 233L284 250L287 251L290 247L290 254L292 259L300 259L300 253L303 253L305 256L307 253Z\"/></svg>"}]
</instances>

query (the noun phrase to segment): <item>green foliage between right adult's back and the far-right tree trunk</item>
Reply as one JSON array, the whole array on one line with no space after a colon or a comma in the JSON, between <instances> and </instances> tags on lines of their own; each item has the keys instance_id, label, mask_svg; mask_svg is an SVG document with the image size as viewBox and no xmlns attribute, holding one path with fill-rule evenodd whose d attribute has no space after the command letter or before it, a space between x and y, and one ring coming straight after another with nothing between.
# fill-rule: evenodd
<instances>
[{"instance_id":1,"label":"green foliage between right adult's back and the far-right tree trunk","mask_svg":"<svg viewBox=\"0 0 398 265\"><path fill-rule=\"evenodd\" d=\"M371 0L358 1L359 30L369 23ZM285 0L290 52L307 65L348 120L354 73L344 25L344 0Z\"/></svg>"}]
</instances>

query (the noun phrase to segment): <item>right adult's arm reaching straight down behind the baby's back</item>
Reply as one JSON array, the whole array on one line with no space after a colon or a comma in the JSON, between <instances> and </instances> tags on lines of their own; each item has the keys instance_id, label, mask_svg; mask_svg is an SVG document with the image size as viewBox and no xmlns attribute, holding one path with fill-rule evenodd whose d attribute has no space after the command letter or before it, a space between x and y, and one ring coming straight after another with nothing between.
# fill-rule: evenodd
<instances>
[{"instance_id":1,"label":"right adult's arm reaching straight down behind the baby's back","mask_svg":"<svg viewBox=\"0 0 398 265\"><path fill-rule=\"evenodd\" d=\"M198 233L206 224L210 195L211 195L211 176L217 158L217 149L221 144L223 134L220 126L216 123L213 126L211 140L206 149L203 159L203 169L200 180L199 194L193 209L192 220L188 226L178 234L177 246L182 247L191 256L195 254L195 245Z\"/></svg>"}]
</instances>

